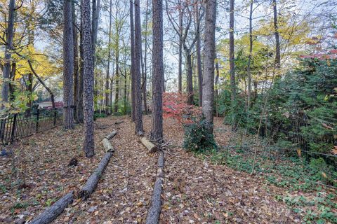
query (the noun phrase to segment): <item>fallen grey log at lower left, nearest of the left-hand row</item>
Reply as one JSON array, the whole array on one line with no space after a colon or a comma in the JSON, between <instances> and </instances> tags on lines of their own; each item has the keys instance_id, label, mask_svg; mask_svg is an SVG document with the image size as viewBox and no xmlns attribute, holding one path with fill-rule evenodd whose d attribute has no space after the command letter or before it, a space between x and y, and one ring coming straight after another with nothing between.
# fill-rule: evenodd
<instances>
[{"instance_id":1,"label":"fallen grey log at lower left, nearest of the left-hand row","mask_svg":"<svg viewBox=\"0 0 337 224\"><path fill-rule=\"evenodd\" d=\"M51 207L44 210L37 218L34 218L29 224L47 224L51 223L57 218L69 204L72 203L74 198L74 192L70 192L67 195L61 197Z\"/></svg>"}]
</instances>

